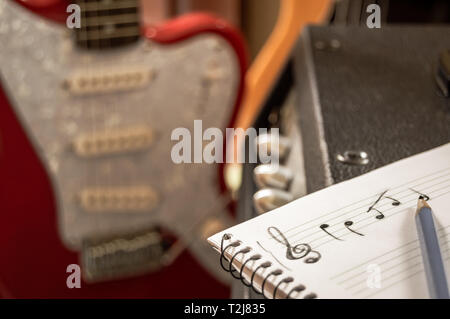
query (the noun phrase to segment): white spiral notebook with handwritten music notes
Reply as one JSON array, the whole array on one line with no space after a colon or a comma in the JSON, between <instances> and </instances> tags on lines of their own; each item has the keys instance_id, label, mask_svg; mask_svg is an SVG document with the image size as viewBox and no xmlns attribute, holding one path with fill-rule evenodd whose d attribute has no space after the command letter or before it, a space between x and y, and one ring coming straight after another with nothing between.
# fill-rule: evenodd
<instances>
[{"instance_id":1,"label":"white spiral notebook with handwritten music notes","mask_svg":"<svg viewBox=\"0 0 450 319\"><path fill-rule=\"evenodd\" d=\"M413 218L420 195L434 211L450 278L450 144L302 197L208 241L224 270L267 298L428 298Z\"/></svg>"}]
</instances>

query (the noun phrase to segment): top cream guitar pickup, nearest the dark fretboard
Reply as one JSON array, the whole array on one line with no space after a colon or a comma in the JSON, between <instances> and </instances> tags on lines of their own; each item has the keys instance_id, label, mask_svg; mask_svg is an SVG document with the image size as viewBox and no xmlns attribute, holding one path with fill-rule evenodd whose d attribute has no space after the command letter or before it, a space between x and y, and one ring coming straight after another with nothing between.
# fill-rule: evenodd
<instances>
[{"instance_id":1,"label":"top cream guitar pickup, nearest the dark fretboard","mask_svg":"<svg viewBox=\"0 0 450 319\"><path fill-rule=\"evenodd\" d=\"M143 88L152 79L150 70L89 71L66 79L63 87L73 95L112 93Z\"/></svg>"}]
</instances>

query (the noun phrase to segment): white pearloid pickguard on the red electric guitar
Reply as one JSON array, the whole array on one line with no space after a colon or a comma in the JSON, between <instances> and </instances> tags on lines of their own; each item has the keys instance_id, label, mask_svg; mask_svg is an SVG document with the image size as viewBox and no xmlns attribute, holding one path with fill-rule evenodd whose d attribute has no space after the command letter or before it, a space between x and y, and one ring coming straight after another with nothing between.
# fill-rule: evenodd
<instances>
[{"instance_id":1,"label":"white pearloid pickguard on the red electric guitar","mask_svg":"<svg viewBox=\"0 0 450 319\"><path fill-rule=\"evenodd\" d=\"M80 51L70 32L12 1L0 1L1 80L51 178L61 239L80 250L88 237L163 225L190 241L193 227L217 213L211 211L218 201L217 166L174 164L171 132L178 127L193 132L196 119L203 120L204 129L226 126L239 81L234 52L215 35L170 46L143 39L113 51ZM148 69L152 81L136 90L87 96L63 88L74 73L128 66ZM72 143L80 134L133 125L156 134L148 150L89 159L74 154ZM156 208L101 214L80 209L77 194L86 187L133 185L155 190ZM215 271L217 258L206 246L196 240L191 248Z\"/></svg>"}]
</instances>

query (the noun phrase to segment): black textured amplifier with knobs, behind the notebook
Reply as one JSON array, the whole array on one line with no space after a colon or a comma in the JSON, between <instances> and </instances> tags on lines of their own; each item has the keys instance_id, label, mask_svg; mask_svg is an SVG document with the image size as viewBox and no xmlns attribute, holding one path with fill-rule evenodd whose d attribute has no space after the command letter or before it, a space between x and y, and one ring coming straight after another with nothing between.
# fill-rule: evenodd
<instances>
[{"instance_id":1,"label":"black textured amplifier with knobs, behind the notebook","mask_svg":"<svg viewBox=\"0 0 450 319\"><path fill-rule=\"evenodd\" d=\"M280 128L280 170L245 165L239 218L450 142L449 50L444 25L307 28L255 123Z\"/></svg>"}]
</instances>

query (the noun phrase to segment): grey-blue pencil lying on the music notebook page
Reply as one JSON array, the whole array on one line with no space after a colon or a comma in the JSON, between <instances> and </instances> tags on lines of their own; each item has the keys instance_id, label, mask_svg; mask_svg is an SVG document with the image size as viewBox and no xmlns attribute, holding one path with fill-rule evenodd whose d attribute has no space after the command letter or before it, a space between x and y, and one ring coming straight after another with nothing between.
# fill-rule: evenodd
<instances>
[{"instance_id":1,"label":"grey-blue pencil lying on the music notebook page","mask_svg":"<svg viewBox=\"0 0 450 319\"><path fill-rule=\"evenodd\" d=\"M430 297L449 299L447 278L434 225L433 211L422 196L419 197L417 203L415 218Z\"/></svg>"}]
</instances>

